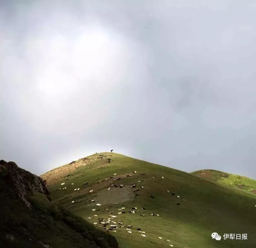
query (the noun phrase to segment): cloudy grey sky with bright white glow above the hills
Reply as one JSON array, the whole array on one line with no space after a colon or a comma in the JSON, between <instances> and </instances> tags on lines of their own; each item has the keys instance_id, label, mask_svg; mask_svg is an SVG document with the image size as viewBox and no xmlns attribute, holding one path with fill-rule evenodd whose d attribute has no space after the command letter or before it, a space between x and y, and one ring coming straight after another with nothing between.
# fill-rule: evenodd
<instances>
[{"instance_id":1,"label":"cloudy grey sky with bright white glow above the hills","mask_svg":"<svg viewBox=\"0 0 256 248\"><path fill-rule=\"evenodd\" d=\"M0 1L0 159L110 151L256 179L256 0Z\"/></svg>"}]
</instances>

